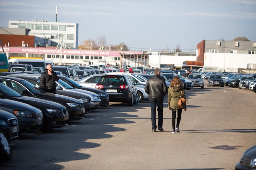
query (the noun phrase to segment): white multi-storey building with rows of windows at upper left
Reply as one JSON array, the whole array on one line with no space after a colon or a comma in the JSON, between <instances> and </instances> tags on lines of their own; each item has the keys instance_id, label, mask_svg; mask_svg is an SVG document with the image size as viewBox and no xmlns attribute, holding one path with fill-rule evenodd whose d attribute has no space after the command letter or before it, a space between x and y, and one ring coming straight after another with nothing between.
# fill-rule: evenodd
<instances>
[{"instance_id":1,"label":"white multi-storey building with rows of windows at upper left","mask_svg":"<svg viewBox=\"0 0 256 170\"><path fill-rule=\"evenodd\" d=\"M28 35L50 39L48 46L57 46L63 34L64 48L77 48L78 44L78 24L68 22L47 22L46 20L14 21L9 20L8 28L30 29Z\"/></svg>"}]
</instances>

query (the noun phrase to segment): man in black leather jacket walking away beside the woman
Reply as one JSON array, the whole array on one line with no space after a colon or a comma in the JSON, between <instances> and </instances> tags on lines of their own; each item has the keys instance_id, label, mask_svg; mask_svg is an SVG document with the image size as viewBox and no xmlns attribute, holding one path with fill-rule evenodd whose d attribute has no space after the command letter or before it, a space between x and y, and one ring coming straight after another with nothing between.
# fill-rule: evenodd
<instances>
[{"instance_id":1,"label":"man in black leather jacket walking away beside the woman","mask_svg":"<svg viewBox=\"0 0 256 170\"><path fill-rule=\"evenodd\" d=\"M165 79L160 77L160 74L160 69L156 68L154 70L154 76L147 80L145 86L145 92L149 94L151 104L151 122L153 132L155 132L157 128L155 119L156 106L158 112L158 129L163 131L163 98L168 91Z\"/></svg>"}]
</instances>

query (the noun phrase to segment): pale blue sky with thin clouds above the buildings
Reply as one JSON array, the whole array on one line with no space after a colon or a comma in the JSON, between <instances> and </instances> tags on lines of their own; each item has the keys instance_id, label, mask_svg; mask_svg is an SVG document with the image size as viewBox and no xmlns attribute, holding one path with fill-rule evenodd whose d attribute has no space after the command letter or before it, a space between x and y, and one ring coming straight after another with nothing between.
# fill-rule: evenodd
<instances>
[{"instance_id":1,"label":"pale blue sky with thin clouds above the buildings","mask_svg":"<svg viewBox=\"0 0 256 170\"><path fill-rule=\"evenodd\" d=\"M0 0L0 27L8 20L79 24L83 40L106 37L130 50L161 51L177 45L195 51L202 40L256 41L256 0Z\"/></svg>"}]
</instances>

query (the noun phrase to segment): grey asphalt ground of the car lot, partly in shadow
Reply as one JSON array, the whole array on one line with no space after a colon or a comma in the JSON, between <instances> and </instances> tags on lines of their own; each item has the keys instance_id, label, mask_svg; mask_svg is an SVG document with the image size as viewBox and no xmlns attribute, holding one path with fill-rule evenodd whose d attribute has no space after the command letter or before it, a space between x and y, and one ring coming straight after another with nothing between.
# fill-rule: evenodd
<instances>
[{"instance_id":1,"label":"grey asphalt ground of the car lot, partly in shadow","mask_svg":"<svg viewBox=\"0 0 256 170\"><path fill-rule=\"evenodd\" d=\"M43 134L22 133L1 170L234 169L256 144L256 93L230 87L186 90L181 133L172 134L164 100L164 131L151 131L150 102L110 103Z\"/></svg>"}]
</instances>

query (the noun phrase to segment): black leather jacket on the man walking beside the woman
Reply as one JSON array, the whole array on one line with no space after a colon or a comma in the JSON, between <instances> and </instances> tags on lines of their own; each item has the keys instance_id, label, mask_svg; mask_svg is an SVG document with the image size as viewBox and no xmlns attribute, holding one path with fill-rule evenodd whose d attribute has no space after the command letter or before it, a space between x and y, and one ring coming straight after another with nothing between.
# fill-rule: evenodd
<instances>
[{"instance_id":1,"label":"black leather jacket on the man walking beside the woman","mask_svg":"<svg viewBox=\"0 0 256 170\"><path fill-rule=\"evenodd\" d=\"M147 80L145 92L149 94L149 99L163 99L167 91L165 79L158 74L154 74Z\"/></svg>"}]
</instances>

